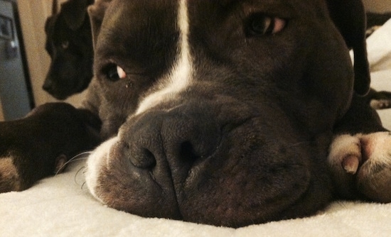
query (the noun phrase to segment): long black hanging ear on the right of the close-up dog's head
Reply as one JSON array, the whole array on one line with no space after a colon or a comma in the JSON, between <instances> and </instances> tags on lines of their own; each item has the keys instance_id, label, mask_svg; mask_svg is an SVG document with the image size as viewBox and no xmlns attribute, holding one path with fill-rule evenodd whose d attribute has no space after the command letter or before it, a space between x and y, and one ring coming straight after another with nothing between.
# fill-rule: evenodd
<instances>
[{"instance_id":1,"label":"long black hanging ear on the right of the close-up dog's head","mask_svg":"<svg viewBox=\"0 0 391 237\"><path fill-rule=\"evenodd\" d=\"M370 89L370 71L365 43L366 18L361 0L327 0L331 18L354 53L354 90L365 95Z\"/></svg>"}]
</instances>

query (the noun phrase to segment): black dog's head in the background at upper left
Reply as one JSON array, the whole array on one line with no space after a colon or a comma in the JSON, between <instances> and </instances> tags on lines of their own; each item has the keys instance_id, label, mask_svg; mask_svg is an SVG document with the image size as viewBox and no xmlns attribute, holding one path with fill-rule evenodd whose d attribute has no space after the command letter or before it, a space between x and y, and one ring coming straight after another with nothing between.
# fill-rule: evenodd
<instances>
[{"instance_id":1,"label":"black dog's head in the background at upper left","mask_svg":"<svg viewBox=\"0 0 391 237\"><path fill-rule=\"evenodd\" d=\"M88 87L92 79L93 49L87 6L93 0L69 0L45 23L45 49L51 62L43 89L66 99Z\"/></svg>"}]
</instances>

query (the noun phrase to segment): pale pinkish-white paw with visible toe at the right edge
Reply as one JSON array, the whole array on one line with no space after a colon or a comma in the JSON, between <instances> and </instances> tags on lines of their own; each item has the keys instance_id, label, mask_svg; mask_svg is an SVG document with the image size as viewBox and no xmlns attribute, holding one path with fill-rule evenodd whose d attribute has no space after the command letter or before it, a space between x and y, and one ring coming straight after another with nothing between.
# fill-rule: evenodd
<instances>
[{"instance_id":1,"label":"pale pinkish-white paw with visible toe at the right edge","mask_svg":"<svg viewBox=\"0 0 391 237\"><path fill-rule=\"evenodd\" d=\"M391 133L339 135L328 155L341 197L391 202Z\"/></svg>"}]
</instances>

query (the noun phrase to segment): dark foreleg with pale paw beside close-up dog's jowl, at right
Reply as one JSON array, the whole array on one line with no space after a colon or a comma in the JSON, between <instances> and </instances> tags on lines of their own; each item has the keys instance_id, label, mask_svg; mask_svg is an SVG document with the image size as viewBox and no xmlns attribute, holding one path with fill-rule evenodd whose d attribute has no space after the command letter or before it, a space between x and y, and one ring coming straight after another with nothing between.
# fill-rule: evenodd
<instances>
[{"instance_id":1,"label":"dark foreleg with pale paw beside close-up dog's jowl, at right","mask_svg":"<svg viewBox=\"0 0 391 237\"><path fill-rule=\"evenodd\" d=\"M336 126L328 163L339 197L391 202L391 133L366 98L354 97Z\"/></svg>"}]
</instances>

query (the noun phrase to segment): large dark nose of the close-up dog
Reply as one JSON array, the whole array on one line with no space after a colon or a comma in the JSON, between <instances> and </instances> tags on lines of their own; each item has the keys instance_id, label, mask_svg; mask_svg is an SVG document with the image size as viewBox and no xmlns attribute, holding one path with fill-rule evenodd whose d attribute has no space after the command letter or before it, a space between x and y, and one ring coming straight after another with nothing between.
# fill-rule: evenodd
<instances>
[{"instance_id":1,"label":"large dark nose of the close-up dog","mask_svg":"<svg viewBox=\"0 0 391 237\"><path fill-rule=\"evenodd\" d=\"M220 127L212 118L191 106L149 112L122 126L121 153L141 169L166 162L171 172L188 172L193 162L218 147Z\"/></svg>"}]
</instances>

